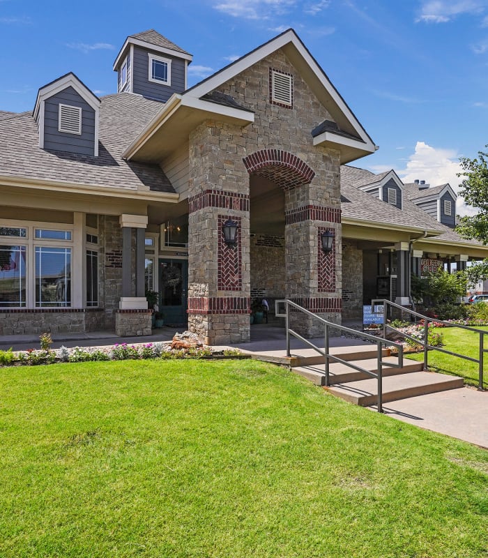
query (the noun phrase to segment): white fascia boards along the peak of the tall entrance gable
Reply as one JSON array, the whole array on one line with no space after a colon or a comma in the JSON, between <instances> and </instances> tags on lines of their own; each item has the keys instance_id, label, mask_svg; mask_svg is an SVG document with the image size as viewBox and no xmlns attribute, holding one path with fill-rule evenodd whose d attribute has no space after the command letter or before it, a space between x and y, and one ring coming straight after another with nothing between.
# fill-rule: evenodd
<instances>
[{"instance_id":1,"label":"white fascia boards along the peak of the tall entrance gable","mask_svg":"<svg viewBox=\"0 0 488 558\"><path fill-rule=\"evenodd\" d=\"M227 68L224 68L224 70L221 70L220 72L209 77L207 80L204 80L204 82L201 82L201 84L194 86L192 89L190 89L190 91L192 91L192 95L195 97L202 97L206 95L206 93L210 93L211 91L216 89L221 84L227 82L238 73L247 70L247 68L252 66L254 63L259 62L261 59L266 58L266 56L273 54L273 52L284 47L289 43L293 44L293 46L300 53L300 55L303 57L305 62L310 66L310 68L312 68L317 79L321 82L322 86L328 91L330 96L333 98L335 104L346 115L346 118L353 124L353 128L356 130L358 135L360 135L361 139L365 142L365 145L361 146L361 150L370 151L371 153L374 153L374 151L376 151L376 146L372 142L371 138L367 135L366 130L363 128L363 126L360 125L358 119L356 119L356 116L354 116L354 114L351 112L351 109L346 105L344 99L340 96L340 94L335 89L333 84L328 80L328 77L326 77L326 75L323 73L322 68L315 61L315 59L310 54L310 52L308 52L307 48L305 47L305 45L303 45L301 40L296 35L295 31L293 31L293 29L289 29L289 31L285 31L281 35L270 40L265 45L262 45L256 50L250 52L250 54L247 54L246 56L243 56L243 58L230 64L229 66L227 66Z\"/></svg>"}]
</instances>

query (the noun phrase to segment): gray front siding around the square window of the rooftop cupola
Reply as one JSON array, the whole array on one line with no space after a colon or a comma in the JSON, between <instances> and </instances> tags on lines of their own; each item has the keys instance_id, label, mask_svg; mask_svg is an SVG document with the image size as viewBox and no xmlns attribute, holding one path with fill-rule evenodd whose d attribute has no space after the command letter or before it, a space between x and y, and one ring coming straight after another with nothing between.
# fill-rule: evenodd
<instances>
[{"instance_id":1,"label":"gray front siding around the square window of the rooftop cupola","mask_svg":"<svg viewBox=\"0 0 488 558\"><path fill-rule=\"evenodd\" d=\"M155 56L162 56L163 58L171 60L171 85L149 81L148 52L155 54ZM185 90L184 60L134 46L134 60L132 63L134 64L134 83L132 84L132 93L139 93L144 97L167 101L173 93L183 93Z\"/></svg>"}]
</instances>

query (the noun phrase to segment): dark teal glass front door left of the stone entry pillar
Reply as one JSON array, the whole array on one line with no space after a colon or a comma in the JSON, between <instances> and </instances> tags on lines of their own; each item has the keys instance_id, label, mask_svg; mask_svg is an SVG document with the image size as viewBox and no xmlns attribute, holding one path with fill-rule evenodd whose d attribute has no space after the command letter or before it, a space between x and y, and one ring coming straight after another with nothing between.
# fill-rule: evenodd
<instances>
[{"instance_id":1,"label":"dark teal glass front door left of the stone entry pillar","mask_svg":"<svg viewBox=\"0 0 488 558\"><path fill-rule=\"evenodd\" d=\"M166 325L184 325L188 318L188 260L159 260L160 310Z\"/></svg>"}]
</instances>

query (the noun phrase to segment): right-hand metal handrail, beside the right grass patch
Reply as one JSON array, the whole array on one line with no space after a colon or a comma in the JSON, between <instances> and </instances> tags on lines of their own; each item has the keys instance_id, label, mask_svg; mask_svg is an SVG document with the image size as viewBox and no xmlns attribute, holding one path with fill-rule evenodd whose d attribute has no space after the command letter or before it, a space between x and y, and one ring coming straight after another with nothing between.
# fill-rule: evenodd
<instances>
[{"instance_id":1,"label":"right-hand metal handrail, beside the right grass patch","mask_svg":"<svg viewBox=\"0 0 488 558\"><path fill-rule=\"evenodd\" d=\"M380 306L383 308L381 312L376 312L375 308ZM408 312L411 316L418 317L424 320L424 340L421 341L420 339L413 338L411 335L404 333L403 331L399 331L395 327L390 326L390 324L386 323L386 315L388 314L386 308L390 306L391 308L398 308L402 310L402 312ZM458 356L459 359L464 359L466 361L471 361L478 363L478 389L480 391L485 391L483 388L483 372L484 372L484 356L485 353L488 352L488 349L485 349L485 335L488 335L488 331L483 331L482 329L478 329L471 326L463 326L462 324L453 324L452 322L445 322L443 319L436 319L436 318L429 318L419 312L415 312L415 310L411 310L410 308L405 308L400 304L397 304L392 301L388 301L386 299L374 299L371 301L371 311L373 314L383 314L383 338L386 338L386 329L391 329L399 335L403 335L404 337L411 339L413 342L418 343L418 345L422 345L424 347L424 370L429 368L429 350L439 351L441 353L450 354L451 356ZM436 322L436 324L444 324L448 327L457 327L459 329L467 329L468 331L473 331L474 333L478 333L480 335L480 343L479 343L479 358L473 359L472 356L466 356L465 354L459 354L452 351L448 351L448 349L443 349L442 347L434 347L433 345L429 345L429 322Z\"/></svg>"}]
</instances>

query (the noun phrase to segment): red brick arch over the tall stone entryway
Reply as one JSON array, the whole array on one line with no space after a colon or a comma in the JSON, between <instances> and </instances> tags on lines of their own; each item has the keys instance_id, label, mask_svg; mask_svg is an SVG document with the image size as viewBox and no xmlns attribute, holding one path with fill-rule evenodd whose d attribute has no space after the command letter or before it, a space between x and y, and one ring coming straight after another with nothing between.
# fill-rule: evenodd
<instances>
[{"instance_id":1,"label":"red brick arch over the tall stone entryway","mask_svg":"<svg viewBox=\"0 0 488 558\"><path fill-rule=\"evenodd\" d=\"M283 190L310 184L315 176L313 169L305 161L281 149L256 151L243 158L243 163L249 174L272 180Z\"/></svg>"}]
</instances>

